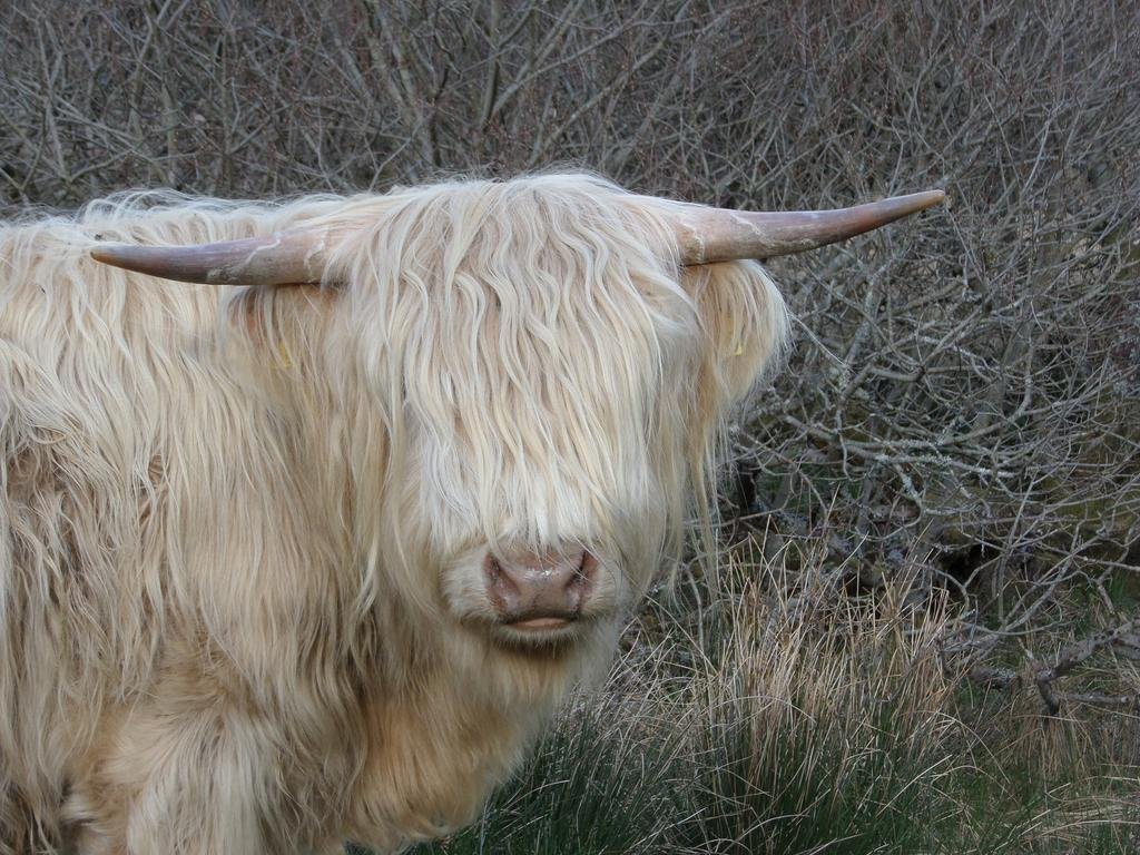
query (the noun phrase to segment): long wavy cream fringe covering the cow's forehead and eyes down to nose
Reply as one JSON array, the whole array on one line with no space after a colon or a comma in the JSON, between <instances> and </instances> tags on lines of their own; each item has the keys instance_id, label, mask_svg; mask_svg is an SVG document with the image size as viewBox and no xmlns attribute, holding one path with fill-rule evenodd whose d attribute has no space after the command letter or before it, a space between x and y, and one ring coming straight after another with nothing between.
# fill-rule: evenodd
<instances>
[{"instance_id":1,"label":"long wavy cream fringe covering the cow's forehead and eyes down to nose","mask_svg":"<svg viewBox=\"0 0 1140 855\"><path fill-rule=\"evenodd\" d=\"M350 323L400 402L433 537L597 539L646 519L700 331L656 228L597 199L440 197L363 247L377 263L356 268Z\"/></svg>"}]
</instances>

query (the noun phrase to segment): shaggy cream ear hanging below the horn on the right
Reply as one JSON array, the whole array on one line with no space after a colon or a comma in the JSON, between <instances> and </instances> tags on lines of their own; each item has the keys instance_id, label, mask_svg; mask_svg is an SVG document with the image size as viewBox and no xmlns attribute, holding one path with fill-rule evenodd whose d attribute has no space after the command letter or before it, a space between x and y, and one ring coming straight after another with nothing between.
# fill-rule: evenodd
<instances>
[{"instance_id":1,"label":"shaggy cream ear hanging below the horn on the right","mask_svg":"<svg viewBox=\"0 0 1140 855\"><path fill-rule=\"evenodd\" d=\"M685 268L703 331L698 406L710 418L739 401L780 361L788 341L788 310L755 261Z\"/></svg>"}]
</instances>

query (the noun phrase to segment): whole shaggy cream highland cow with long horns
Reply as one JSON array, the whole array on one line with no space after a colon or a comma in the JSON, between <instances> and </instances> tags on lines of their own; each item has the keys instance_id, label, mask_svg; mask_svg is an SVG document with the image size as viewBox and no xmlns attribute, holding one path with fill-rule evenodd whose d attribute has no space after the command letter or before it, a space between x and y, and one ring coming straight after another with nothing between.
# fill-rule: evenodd
<instances>
[{"instance_id":1,"label":"whole shaggy cream highland cow with long horns","mask_svg":"<svg viewBox=\"0 0 1140 855\"><path fill-rule=\"evenodd\" d=\"M578 174L0 227L0 853L469 822L708 500L785 334L741 259L940 197Z\"/></svg>"}]
</instances>

